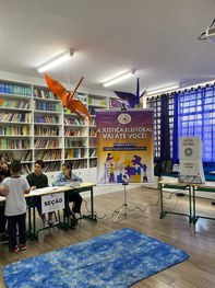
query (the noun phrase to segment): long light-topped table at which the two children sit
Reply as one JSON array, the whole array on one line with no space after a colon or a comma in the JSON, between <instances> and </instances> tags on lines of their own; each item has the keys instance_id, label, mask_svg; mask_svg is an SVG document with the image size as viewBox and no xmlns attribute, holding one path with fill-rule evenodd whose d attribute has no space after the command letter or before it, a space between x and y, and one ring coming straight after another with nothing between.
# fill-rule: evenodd
<instances>
[{"instance_id":1,"label":"long light-topped table at which the two children sit","mask_svg":"<svg viewBox=\"0 0 215 288\"><path fill-rule=\"evenodd\" d=\"M35 199L44 196L44 195L50 195L56 193L64 193L64 211L63 211L63 221L59 221L58 226L62 229L69 229L70 228L70 219L69 217L65 217L65 209L68 209L69 206L69 195L71 193L83 193L86 191L89 191L91 195L91 214L89 215L83 215L82 218L88 218L89 220L97 221L96 215L94 212L94 195L93 195L93 187L95 186L95 183L81 183L79 186L70 187L70 186L61 186L61 187L49 187L49 191L37 193L36 191L32 191L29 194L25 195L27 207L28 207L28 227L27 227L27 237L31 239L38 239L38 233L41 230L45 230L47 228L41 228L39 230L36 230L36 209L35 209ZM5 198L0 196L0 206L4 206ZM59 217L60 219L60 217ZM55 227L55 226L53 226Z\"/></svg>"}]
</instances>

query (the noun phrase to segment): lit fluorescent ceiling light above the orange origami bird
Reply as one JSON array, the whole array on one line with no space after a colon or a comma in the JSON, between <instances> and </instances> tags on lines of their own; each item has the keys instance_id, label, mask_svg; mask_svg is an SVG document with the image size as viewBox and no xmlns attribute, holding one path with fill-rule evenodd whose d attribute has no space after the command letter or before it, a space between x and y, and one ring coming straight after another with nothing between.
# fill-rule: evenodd
<instances>
[{"instance_id":1,"label":"lit fluorescent ceiling light above the orange origami bird","mask_svg":"<svg viewBox=\"0 0 215 288\"><path fill-rule=\"evenodd\" d=\"M48 61L46 61L45 64L40 65L39 67L37 67L37 71L39 73L43 73L67 60L69 60L72 56L73 56L74 51L72 49L69 49L64 53L61 53L60 55L49 59Z\"/></svg>"}]
</instances>

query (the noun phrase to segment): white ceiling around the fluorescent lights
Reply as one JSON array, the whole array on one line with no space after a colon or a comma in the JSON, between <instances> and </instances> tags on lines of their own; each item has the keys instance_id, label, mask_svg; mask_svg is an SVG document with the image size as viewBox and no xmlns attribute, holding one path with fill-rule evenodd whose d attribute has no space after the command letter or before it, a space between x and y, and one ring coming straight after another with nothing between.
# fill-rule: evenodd
<instances>
[{"instance_id":1,"label":"white ceiling around the fluorescent lights","mask_svg":"<svg viewBox=\"0 0 215 288\"><path fill-rule=\"evenodd\" d=\"M215 18L214 0L0 0L0 70L43 78L36 67L73 48L49 74L97 90L135 69L141 89L215 79L215 44L198 37Z\"/></svg>"}]
</instances>

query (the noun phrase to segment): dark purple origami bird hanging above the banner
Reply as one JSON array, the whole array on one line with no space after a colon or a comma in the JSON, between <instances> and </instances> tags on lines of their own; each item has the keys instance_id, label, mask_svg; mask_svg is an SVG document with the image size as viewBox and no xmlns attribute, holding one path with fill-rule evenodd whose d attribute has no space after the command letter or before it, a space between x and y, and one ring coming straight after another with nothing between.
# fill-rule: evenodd
<instances>
[{"instance_id":1,"label":"dark purple origami bird hanging above the banner","mask_svg":"<svg viewBox=\"0 0 215 288\"><path fill-rule=\"evenodd\" d=\"M115 94L122 99L127 100L130 108L134 108L135 106L140 106L140 100L145 94L146 90L144 90L140 95L140 81L136 79L136 93L131 92L122 92L122 91L114 91Z\"/></svg>"}]
</instances>

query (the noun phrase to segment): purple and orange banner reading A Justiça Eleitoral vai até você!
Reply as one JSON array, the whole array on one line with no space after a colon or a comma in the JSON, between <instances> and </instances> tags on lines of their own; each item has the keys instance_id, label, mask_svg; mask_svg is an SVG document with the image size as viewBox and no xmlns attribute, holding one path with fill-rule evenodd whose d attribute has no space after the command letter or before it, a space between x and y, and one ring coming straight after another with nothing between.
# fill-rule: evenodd
<instances>
[{"instance_id":1,"label":"purple and orange banner reading A Justi\u00e7a Eleitoral vai at\u00e9 voc\u00ea!","mask_svg":"<svg viewBox=\"0 0 215 288\"><path fill-rule=\"evenodd\" d=\"M98 110L97 183L154 182L153 110Z\"/></svg>"}]
</instances>

